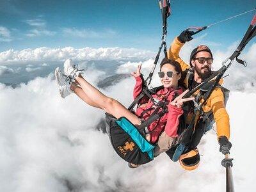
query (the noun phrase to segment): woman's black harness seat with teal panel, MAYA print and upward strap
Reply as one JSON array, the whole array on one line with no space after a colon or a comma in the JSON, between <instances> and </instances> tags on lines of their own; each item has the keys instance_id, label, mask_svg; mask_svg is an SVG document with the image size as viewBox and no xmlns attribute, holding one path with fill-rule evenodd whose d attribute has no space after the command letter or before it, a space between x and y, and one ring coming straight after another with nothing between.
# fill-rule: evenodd
<instances>
[{"instance_id":1,"label":"woman's black harness seat with teal panel, MAYA print and upward strap","mask_svg":"<svg viewBox=\"0 0 256 192\"><path fill-rule=\"evenodd\" d=\"M155 145L146 140L145 134L148 134L149 132L145 132L145 128L155 120L159 120L161 116L168 112L168 102L166 102L166 100L158 101L152 97L153 94L156 94L159 90L163 89L163 86L158 88L148 88L163 47L164 55L167 57L165 38L167 34L167 18L171 13L170 0L159 0L159 7L163 19L161 45L157 52L152 70L143 83L142 92L136 99L134 99L134 102L132 102L128 109L134 113L133 108L136 104L139 106L140 100L143 97L151 99L156 108L146 121L141 122L141 125L133 125L125 117L116 119L114 116L106 114L106 131L108 132L113 148L122 159L134 164L145 164L154 159Z\"/></svg>"}]
</instances>

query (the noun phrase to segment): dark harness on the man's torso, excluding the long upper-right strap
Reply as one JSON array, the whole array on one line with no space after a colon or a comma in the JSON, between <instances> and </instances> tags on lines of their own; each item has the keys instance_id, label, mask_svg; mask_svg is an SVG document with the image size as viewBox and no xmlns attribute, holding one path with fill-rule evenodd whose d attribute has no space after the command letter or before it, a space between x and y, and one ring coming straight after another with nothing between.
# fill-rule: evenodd
<instances>
[{"instance_id":1,"label":"dark harness on the man's torso, excluding the long upper-right strap","mask_svg":"<svg viewBox=\"0 0 256 192\"><path fill-rule=\"evenodd\" d=\"M212 72L213 76L221 77L221 74ZM186 88L193 90L194 80L194 68L189 68L184 71ZM210 80L198 88L198 93L193 93L195 100L193 102L186 102L182 109L183 115L180 116L180 124L178 129L178 137L172 143L172 148L166 151L166 154L172 159L172 161L178 161L181 154L193 150L200 143L200 140L204 134L211 130L214 125L214 116L212 111L205 112L202 108L207 102L207 99L211 96L211 93L215 88L220 88L224 95L224 104L227 104L229 97L229 90L221 86L218 82L220 80ZM215 85L216 84L216 85ZM212 90L212 91L211 91ZM186 97L185 95L184 97ZM187 123L188 119L190 121Z\"/></svg>"}]
</instances>

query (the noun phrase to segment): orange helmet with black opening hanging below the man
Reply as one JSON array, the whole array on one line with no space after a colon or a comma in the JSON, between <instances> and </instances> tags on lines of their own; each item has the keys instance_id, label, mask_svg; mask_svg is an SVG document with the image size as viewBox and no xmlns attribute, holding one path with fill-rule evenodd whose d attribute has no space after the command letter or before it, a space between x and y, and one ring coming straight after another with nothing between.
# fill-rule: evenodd
<instances>
[{"instance_id":1,"label":"orange helmet with black opening hanging below the man","mask_svg":"<svg viewBox=\"0 0 256 192\"><path fill-rule=\"evenodd\" d=\"M180 165L185 169L185 170L195 170L200 162L200 155L198 152L198 149L195 148L193 150L189 150L189 152L186 152L185 154L182 154L179 157L179 162Z\"/></svg>"}]
</instances>

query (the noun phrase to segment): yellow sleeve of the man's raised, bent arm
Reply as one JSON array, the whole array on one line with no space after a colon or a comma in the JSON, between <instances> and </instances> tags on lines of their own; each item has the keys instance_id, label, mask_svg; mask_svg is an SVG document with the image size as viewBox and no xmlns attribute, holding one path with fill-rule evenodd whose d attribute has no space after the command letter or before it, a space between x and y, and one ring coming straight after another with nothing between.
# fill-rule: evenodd
<instances>
[{"instance_id":1,"label":"yellow sleeve of the man's raised, bent arm","mask_svg":"<svg viewBox=\"0 0 256 192\"><path fill-rule=\"evenodd\" d=\"M168 59L175 60L180 63L180 67L182 68L182 71L190 68L187 63L185 63L179 56L180 49L183 47L184 44L179 42L178 38L175 37L175 39L172 42L172 45L167 51Z\"/></svg>"}]
</instances>

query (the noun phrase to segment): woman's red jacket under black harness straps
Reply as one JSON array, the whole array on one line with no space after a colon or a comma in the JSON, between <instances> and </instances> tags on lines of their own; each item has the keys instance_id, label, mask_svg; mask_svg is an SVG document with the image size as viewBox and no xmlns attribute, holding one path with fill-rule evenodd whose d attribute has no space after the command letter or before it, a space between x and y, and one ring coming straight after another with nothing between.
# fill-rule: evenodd
<instances>
[{"instance_id":1,"label":"woman's red jacket under black harness straps","mask_svg":"<svg viewBox=\"0 0 256 192\"><path fill-rule=\"evenodd\" d=\"M133 90L134 99L138 95L140 95L143 87L143 79L141 79L141 77L136 77L135 79L136 79L136 84ZM159 90L156 94L152 95L152 97L156 98L157 100L163 100L163 98L167 97L166 101L172 101L175 93L177 95L180 95L180 93L182 92L183 92L182 88L179 88L177 90L173 88L163 88ZM136 110L136 115L139 117L142 117L144 120L147 120L147 118L154 112L154 109L147 111L147 113L144 113L143 116L141 116L141 113L146 109L150 109L154 107L154 104L151 99L148 99L148 97L143 97L140 100L140 104L142 105ZM160 120L156 120L148 126L148 131L153 130L152 132L150 132L150 142L156 143L157 139L159 138L159 134L161 134L163 130L170 137L178 136L177 129L179 125L179 116L182 115L182 113L183 113L182 108L177 108L176 106L172 106L171 104L168 104L168 113L165 113L160 118Z\"/></svg>"}]
</instances>

